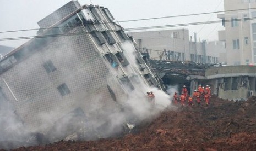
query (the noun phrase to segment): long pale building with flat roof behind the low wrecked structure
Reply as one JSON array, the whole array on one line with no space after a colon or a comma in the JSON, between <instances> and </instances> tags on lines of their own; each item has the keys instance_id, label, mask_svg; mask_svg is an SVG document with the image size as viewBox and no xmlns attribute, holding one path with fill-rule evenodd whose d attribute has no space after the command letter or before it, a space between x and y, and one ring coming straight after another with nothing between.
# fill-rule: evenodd
<instances>
[{"instance_id":1,"label":"long pale building with flat roof behind the low wrecked structure","mask_svg":"<svg viewBox=\"0 0 256 151\"><path fill-rule=\"evenodd\" d=\"M192 42L187 29L129 32L138 49L147 51L151 59L170 61L193 61L197 63L217 63L224 61L220 53L225 53L224 42ZM195 39L196 34L194 35Z\"/></svg>"}]
</instances>

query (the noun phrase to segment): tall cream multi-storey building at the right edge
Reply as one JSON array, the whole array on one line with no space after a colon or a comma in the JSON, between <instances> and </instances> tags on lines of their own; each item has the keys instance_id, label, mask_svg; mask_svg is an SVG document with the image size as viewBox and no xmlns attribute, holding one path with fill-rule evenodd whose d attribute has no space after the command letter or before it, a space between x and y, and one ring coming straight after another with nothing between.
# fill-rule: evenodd
<instances>
[{"instance_id":1,"label":"tall cream multi-storey building at the right edge","mask_svg":"<svg viewBox=\"0 0 256 151\"><path fill-rule=\"evenodd\" d=\"M255 0L224 0L222 19L224 31L219 40L226 42L227 65L256 65Z\"/></svg>"}]
</instances>

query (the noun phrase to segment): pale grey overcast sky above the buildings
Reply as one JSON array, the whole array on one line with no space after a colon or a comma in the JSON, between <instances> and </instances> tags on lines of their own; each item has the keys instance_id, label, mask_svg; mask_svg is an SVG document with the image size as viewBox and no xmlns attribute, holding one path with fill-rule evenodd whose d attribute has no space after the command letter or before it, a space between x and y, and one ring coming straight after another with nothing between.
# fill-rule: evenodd
<instances>
[{"instance_id":1,"label":"pale grey overcast sky above the buildings","mask_svg":"<svg viewBox=\"0 0 256 151\"><path fill-rule=\"evenodd\" d=\"M0 0L0 39L36 36L35 31L8 32L39 28L37 22L62 7L70 0ZM81 5L91 4L107 7L115 21L160 18L187 14L208 13L224 10L224 0L79 0ZM221 13L219 13L221 14ZM191 22L217 21L217 13L206 15L184 16L178 18L152 19L145 21L120 22L125 29L134 27L163 26L187 24ZM190 36L196 32L198 38L217 40L217 31L224 30L221 23L193 26L178 26L167 29L187 28ZM152 30L159 30L157 28ZM161 29L162 30L162 29ZM132 32L132 31L130 31ZM26 40L1 41L0 45L18 47Z\"/></svg>"}]
</instances>

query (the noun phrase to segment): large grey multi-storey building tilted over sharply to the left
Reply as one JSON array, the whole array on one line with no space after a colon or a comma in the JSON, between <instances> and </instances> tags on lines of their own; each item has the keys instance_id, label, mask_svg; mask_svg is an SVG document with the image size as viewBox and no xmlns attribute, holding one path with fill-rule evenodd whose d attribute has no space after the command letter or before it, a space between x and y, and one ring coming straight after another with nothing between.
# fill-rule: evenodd
<instances>
[{"instance_id":1,"label":"large grey multi-storey building tilted over sharply to the left","mask_svg":"<svg viewBox=\"0 0 256 151\"><path fill-rule=\"evenodd\" d=\"M99 127L130 91L163 89L113 20L107 8L78 1L40 20L37 36L0 61L1 110L32 132L54 133L58 123L77 118L81 124L101 121L91 123Z\"/></svg>"}]
</instances>

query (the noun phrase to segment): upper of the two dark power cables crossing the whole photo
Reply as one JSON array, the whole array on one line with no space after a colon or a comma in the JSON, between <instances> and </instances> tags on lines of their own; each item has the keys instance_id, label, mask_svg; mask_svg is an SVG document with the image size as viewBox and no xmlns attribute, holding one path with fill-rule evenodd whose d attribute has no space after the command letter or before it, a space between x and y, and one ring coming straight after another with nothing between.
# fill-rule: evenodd
<instances>
[{"instance_id":1,"label":"upper of the two dark power cables crossing the whole photo","mask_svg":"<svg viewBox=\"0 0 256 151\"><path fill-rule=\"evenodd\" d=\"M175 16L164 16L159 18L146 18L146 19L135 19L135 20L123 20L123 21L115 21L116 23L119 22L131 22L131 21L143 21L143 20L154 20L154 19L164 19L164 18L177 18L183 16L194 16L194 15L205 15L205 14L214 14L214 13L225 13L230 11L240 11L240 10L249 10L249 9L256 9L256 8L246 8L246 9L233 9L233 10L224 10L224 11L213 11L213 12L206 12L206 13L197 13L197 14L186 14L186 15L175 15ZM105 23L113 23L113 22L105 22ZM104 23L104 24L105 24ZM93 23L92 23L93 24ZM91 25L92 25L91 24ZM103 24L103 23L96 23L96 24ZM88 24L90 25L90 24ZM65 26L62 26L65 27ZM50 27L50 28L62 28L62 27ZM49 28L32 28L27 30L13 30L13 31L0 31L0 33L8 33L8 32L21 32L21 31L33 31L33 30L46 30Z\"/></svg>"}]
</instances>

